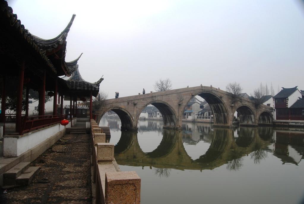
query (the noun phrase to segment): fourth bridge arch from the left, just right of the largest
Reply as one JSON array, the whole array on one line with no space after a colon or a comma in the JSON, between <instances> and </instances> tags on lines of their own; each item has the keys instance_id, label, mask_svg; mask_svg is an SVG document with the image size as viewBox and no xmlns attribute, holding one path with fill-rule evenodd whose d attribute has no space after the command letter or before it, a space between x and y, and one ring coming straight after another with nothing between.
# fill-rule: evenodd
<instances>
[{"instance_id":1,"label":"fourth bridge arch from the left, just right of the largest","mask_svg":"<svg viewBox=\"0 0 304 204\"><path fill-rule=\"evenodd\" d=\"M241 104L237 106L235 111L238 113L238 116L240 118L240 125L256 125L255 114L250 106ZM235 111L233 111L233 113Z\"/></svg>"}]
</instances>

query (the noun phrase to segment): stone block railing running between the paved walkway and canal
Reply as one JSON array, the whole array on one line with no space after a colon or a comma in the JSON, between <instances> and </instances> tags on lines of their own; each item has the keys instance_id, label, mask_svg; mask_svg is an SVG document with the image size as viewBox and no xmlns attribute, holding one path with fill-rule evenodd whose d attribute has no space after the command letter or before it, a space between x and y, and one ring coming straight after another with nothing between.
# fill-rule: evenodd
<instances>
[{"instance_id":1,"label":"stone block railing running between the paved walkway and canal","mask_svg":"<svg viewBox=\"0 0 304 204\"><path fill-rule=\"evenodd\" d=\"M96 204L140 204L140 177L135 171L120 171L114 159L114 144L106 143L105 134L95 120L90 123Z\"/></svg>"}]
</instances>

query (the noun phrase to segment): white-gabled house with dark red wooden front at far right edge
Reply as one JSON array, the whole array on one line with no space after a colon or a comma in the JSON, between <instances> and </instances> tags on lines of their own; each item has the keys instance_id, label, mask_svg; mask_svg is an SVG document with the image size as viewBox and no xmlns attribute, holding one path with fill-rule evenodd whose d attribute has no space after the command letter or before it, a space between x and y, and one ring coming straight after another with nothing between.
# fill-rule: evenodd
<instances>
[{"instance_id":1,"label":"white-gabled house with dark red wooden front at far right edge","mask_svg":"<svg viewBox=\"0 0 304 204\"><path fill-rule=\"evenodd\" d=\"M302 93L297 86L284 88L273 97L276 120L304 120Z\"/></svg>"}]
</instances>

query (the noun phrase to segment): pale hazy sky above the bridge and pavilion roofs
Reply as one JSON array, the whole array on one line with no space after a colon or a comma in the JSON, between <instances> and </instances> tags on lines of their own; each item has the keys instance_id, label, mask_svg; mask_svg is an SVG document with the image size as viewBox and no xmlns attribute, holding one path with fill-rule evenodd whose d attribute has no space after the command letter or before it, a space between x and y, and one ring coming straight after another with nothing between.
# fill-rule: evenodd
<instances>
[{"instance_id":1,"label":"pale hazy sky above the bridge and pavilion roofs","mask_svg":"<svg viewBox=\"0 0 304 204\"><path fill-rule=\"evenodd\" d=\"M304 89L304 6L300 1L8 1L30 33L56 37L76 14L66 61L86 81L102 75L109 98L200 84L243 92L260 83Z\"/></svg>"}]
</instances>

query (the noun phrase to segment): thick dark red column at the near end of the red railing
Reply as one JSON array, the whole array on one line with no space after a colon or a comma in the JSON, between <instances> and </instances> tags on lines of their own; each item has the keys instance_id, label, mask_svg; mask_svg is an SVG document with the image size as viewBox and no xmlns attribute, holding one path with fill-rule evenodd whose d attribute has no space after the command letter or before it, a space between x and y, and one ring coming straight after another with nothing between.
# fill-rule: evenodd
<instances>
[{"instance_id":1,"label":"thick dark red column at the near end of the red railing","mask_svg":"<svg viewBox=\"0 0 304 204\"><path fill-rule=\"evenodd\" d=\"M24 78L24 59L21 62L19 70L19 85L17 94L17 108L16 108L16 132L18 133L21 128L21 112L22 112L22 92L23 92L23 78Z\"/></svg>"}]
</instances>

